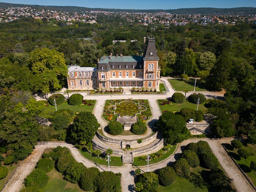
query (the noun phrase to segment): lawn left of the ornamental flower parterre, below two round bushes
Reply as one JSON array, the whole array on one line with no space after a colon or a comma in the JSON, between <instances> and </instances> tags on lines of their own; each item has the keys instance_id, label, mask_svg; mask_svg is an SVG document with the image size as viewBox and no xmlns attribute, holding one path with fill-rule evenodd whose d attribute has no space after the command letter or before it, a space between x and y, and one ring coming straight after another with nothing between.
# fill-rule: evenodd
<instances>
[{"instance_id":1,"label":"lawn left of the ornamental flower parterre, below two round bushes","mask_svg":"<svg viewBox=\"0 0 256 192\"><path fill-rule=\"evenodd\" d=\"M96 103L96 100L90 100L92 105L89 106L88 104L86 105L68 105L67 102L62 103L61 105L57 105L57 110L58 109L70 109L74 112L74 116L76 115L75 112L92 112L94 105ZM55 111L55 106L52 106L50 104L48 104L49 109L51 109L52 111Z\"/></svg>"}]
</instances>

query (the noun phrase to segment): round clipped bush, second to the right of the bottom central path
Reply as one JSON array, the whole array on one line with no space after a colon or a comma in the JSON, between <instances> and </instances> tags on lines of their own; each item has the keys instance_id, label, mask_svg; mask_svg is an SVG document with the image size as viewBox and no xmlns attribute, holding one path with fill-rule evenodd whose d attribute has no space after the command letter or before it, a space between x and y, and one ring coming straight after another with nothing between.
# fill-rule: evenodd
<instances>
[{"instance_id":1,"label":"round clipped bush, second to the right of the bottom central path","mask_svg":"<svg viewBox=\"0 0 256 192\"><path fill-rule=\"evenodd\" d=\"M175 177L176 177L176 173L173 170L173 167L167 166L160 169L158 172L159 183L160 185L163 185L163 186L171 185L175 180Z\"/></svg>"}]
</instances>

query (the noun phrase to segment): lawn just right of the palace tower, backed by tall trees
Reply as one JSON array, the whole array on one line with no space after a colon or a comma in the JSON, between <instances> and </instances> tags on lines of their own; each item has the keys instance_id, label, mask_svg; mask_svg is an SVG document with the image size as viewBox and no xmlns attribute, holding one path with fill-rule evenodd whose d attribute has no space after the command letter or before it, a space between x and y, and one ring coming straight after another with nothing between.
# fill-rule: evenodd
<instances>
[{"instance_id":1,"label":"lawn just right of the palace tower, backed by tall trees","mask_svg":"<svg viewBox=\"0 0 256 192\"><path fill-rule=\"evenodd\" d=\"M195 86L196 92L207 91L204 83L201 83L199 80L197 80L196 84L195 84L195 80L183 81L183 80L177 80L177 79L168 79L168 81L171 83L171 85L176 91L184 91L185 88L188 89L189 91L194 91L194 86Z\"/></svg>"}]
</instances>

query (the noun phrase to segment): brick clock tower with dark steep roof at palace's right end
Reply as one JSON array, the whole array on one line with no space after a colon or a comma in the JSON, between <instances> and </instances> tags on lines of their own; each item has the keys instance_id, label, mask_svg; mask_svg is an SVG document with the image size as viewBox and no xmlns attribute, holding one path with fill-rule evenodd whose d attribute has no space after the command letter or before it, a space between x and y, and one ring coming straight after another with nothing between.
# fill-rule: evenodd
<instances>
[{"instance_id":1,"label":"brick clock tower with dark steep roof at palace's right end","mask_svg":"<svg viewBox=\"0 0 256 192\"><path fill-rule=\"evenodd\" d=\"M155 38L148 38L147 45L144 42L144 82L143 87L159 90L160 67L158 66L159 57L155 46Z\"/></svg>"}]
</instances>

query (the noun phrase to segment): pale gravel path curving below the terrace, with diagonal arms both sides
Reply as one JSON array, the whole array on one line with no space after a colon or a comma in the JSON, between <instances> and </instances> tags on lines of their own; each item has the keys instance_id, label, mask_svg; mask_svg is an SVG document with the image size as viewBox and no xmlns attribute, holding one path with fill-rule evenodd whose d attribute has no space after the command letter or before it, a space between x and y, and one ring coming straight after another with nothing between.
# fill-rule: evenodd
<instances>
[{"instance_id":1,"label":"pale gravel path curving below the terrace, with diagonal arms both sides","mask_svg":"<svg viewBox=\"0 0 256 192\"><path fill-rule=\"evenodd\" d=\"M180 143L177 147L177 150L173 155L171 155L168 159L154 164L149 165L149 171L155 171L162 167L166 167L167 165L171 165L178 156L181 154L182 149L184 149L184 146L191 142L198 142L202 139L188 139L186 141L183 141ZM236 187L238 192L254 192L254 189L249 184L249 182L245 179L243 174L240 172L238 167L234 164L234 162L230 159L228 154L225 152L224 148L222 147L222 143L230 143L233 138L224 138L221 140L211 140L211 139L204 139L207 141L213 150L213 153L216 155L216 157L219 159L220 164L224 168L225 172L229 176L231 180L234 182L234 186ZM43 151L46 148L53 148L57 146L67 147L70 149L72 155L74 156L74 159L78 162L82 162L86 167L97 167L100 171L108 170L107 166L97 166L91 161L88 161L85 159L73 145L65 143L65 142L47 142L44 145L36 145L35 150L32 152L32 154L24 160L22 165L18 168L16 173L13 175L13 177L10 179L9 183L7 183L6 187L2 192L18 192L22 188L23 181L26 178L26 176L34 169L36 166L37 161L40 159L40 156L43 154ZM134 171L136 167L132 167L131 164L124 164L123 167L110 167L110 171L114 173L120 172L122 174L121 177L121 185L123 188L123 192L130 192L133 191L135 183L134 183ZM143 166L140 167L140 169L144 172L146 172L147 167Z\"/></svg>"}]
</instances>

